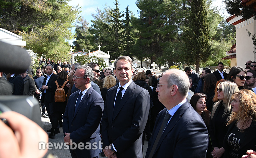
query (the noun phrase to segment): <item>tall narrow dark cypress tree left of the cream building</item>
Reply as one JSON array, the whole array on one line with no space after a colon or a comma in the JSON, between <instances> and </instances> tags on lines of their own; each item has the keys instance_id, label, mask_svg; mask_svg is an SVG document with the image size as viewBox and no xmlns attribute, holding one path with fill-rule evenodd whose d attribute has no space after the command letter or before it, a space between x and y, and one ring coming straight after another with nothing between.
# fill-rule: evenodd
<instances>
[{"instance_id":1,"label":"tall narrow dark cypress tree left of the cream building","mask_svg":"<svg viewBox=\"0 0 256 158\"><path fill-rule=\"evenodd\" d=\"M188 24L183 36L186 43L188 64L196 64L196 72L199 72L201 62L206 62L211 55L209 42L209 24L206 19L206 0L192 0L191 13L188 17Z\"/></svg>"}]
</instances>

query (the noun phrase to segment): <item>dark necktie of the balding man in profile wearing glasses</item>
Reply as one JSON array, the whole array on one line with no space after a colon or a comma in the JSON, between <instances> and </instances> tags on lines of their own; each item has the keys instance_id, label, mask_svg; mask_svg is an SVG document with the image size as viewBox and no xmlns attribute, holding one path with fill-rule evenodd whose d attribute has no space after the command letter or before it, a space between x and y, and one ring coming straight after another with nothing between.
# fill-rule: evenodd
<instances>
[{"instance_id":1,"label":"dark necktie of the balding man in profile wearing glasses","mask_svg":"<svg viewBox=\"0 0 256 158\"><path fill-rule=\"evenodd\" d=\"M157 146L157 144L158 144L158 142L159 142L159 140L160 140L160 138L161 138L161 136L162 136L162 134L163 134L163 132L165 130L165 127L167 126L167 123L168 123L168 121L170 120L171 117L172 117L172 115L170 115L169 112L166 112L165 118L164 118L163 123L162 123L162 125L160 127L160 130L159 130L159 132L157 134L157 137L155 139L155 142L153 144L153 147L152 147L152 150L151 150L151 152L149 154L149 157L153 157L153 154L155 152L156 146Z\"/></svg>"}]
</instances>

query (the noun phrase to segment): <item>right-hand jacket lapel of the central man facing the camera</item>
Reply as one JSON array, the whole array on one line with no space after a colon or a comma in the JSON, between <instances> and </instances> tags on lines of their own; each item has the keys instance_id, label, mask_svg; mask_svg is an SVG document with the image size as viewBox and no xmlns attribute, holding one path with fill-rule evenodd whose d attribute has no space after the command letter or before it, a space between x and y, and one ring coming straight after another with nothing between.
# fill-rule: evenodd
<instances>
[{"instance_id":1,"label":"right-hand jacket lapel of the central man facing the camera","mask_svg":"<svg viewBox=\"0 0 256 158\"><path fill-rule=\"evenodd\" d=\"M124 106L124 104L126 103L126 101L130 98L130 96L133 94L132 89L136 88L136 84L134 82L132 82L128 88L126 89L124 96L122 97L122 100L120 102L120 104L117 107L117 111L115 114L113 114L113 120L116 118L117 114L120 112L120 110L122 109L122 107ZM115 107L116 108L116 107Z\"/></svg>"}]
</instances>

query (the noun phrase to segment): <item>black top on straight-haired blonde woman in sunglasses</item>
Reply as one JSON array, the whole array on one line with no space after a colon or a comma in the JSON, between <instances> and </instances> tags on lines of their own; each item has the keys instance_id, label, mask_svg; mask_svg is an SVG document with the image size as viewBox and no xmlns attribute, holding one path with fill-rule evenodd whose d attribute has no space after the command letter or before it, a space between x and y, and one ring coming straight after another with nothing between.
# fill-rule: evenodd
<instances>
[{"instance_id":1,"label":"black top on straight-haired blonde woman in sunglasses","mask_svg":"<svg viewBox=\"0 0 256 158\"><path fill-rule=\"evenodd\" d=\"M217 107L213 118L210 121L210 127L209 127L209 134L211 137L211 142L213 147L223 147L223 140L224 137L228 131L228 127L226 125L227 118L230 113L227 115L224 115L224 105L222 104L223 101L221 100L219 106ZM223 157L223 155L222 155Z\"/></svg>"}]
</instances>

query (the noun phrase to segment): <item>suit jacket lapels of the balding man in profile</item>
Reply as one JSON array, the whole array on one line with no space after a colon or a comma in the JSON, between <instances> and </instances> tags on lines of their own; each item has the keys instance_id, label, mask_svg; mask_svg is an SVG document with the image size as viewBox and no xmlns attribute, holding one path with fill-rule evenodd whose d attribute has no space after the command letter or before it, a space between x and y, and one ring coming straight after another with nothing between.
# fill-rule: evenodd
<instances>
[{"instance_id":1,"label":"suit jacket lapels of the balding man in profile","mask_svg":"<svg viewBox=\"0 0 256 158\"><path fill-rule=\"evenodd\" d=\"M166 126L163 134L160 137L160 140L157 144L157 147L155 149L155 152L157 151L158 147L160 146L160 144L163 142L164 138L166 137L166 135L173 129L173 127L176 125L176 123L180 120L180 117L184 114L184 112L188 109L188 107L190 106L190 104L188 102L185 102L183 105L181 105L180 108L178 108L178 110L174 113L174 115L171 117L170 122L168 123L168 125ZM163 115L163 118L165 117L165 114ZM163 120L162 118L162 120ZM162 124L163 121L161 121ZM159 128L161 127L161 125L159 126ZM159 131L159 129L158 129ZM155 154L155 153L154 153ZM154 155L153 154L153 155Z\"/></svg>"}]
</instances>

